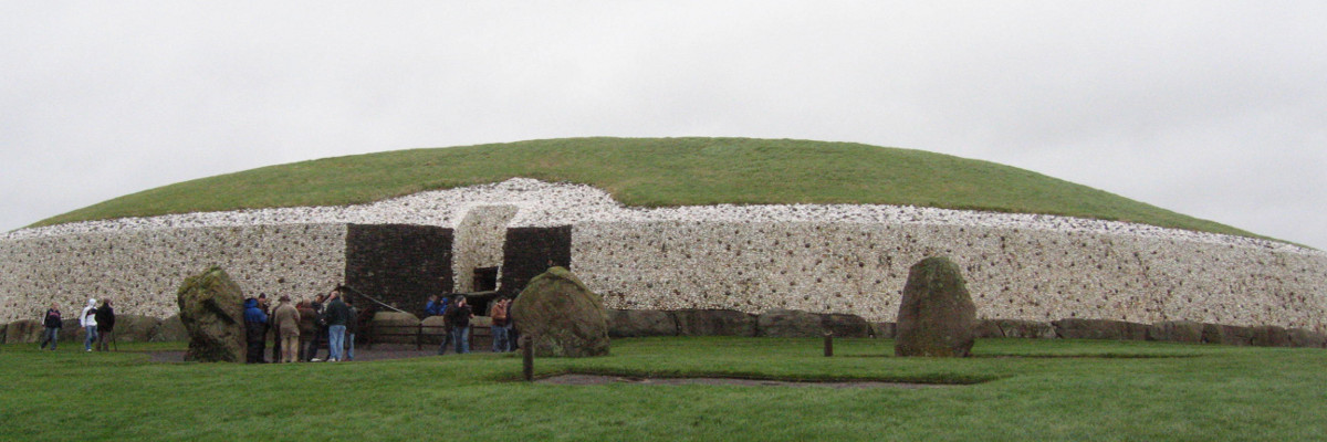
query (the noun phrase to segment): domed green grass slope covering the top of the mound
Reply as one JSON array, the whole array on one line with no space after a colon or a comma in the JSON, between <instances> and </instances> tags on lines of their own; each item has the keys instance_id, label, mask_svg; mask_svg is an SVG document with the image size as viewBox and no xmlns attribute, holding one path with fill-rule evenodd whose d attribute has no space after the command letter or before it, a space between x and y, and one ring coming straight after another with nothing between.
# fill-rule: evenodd
<instances>
[{"instance_id":1,"label":"domed green grass slope covering the top of the mound","mask_svg":"<svg viewBox=\"0 0 1327 442\"><path fill-rule=\"evenodd\" d=\"M857 143L748 138L568 138L326 158L158 187L33 227L192 211L368 203L514 177L592 184L629 206L912 204L1255 236L983 161Z\"/></svg>"}]
</instances>

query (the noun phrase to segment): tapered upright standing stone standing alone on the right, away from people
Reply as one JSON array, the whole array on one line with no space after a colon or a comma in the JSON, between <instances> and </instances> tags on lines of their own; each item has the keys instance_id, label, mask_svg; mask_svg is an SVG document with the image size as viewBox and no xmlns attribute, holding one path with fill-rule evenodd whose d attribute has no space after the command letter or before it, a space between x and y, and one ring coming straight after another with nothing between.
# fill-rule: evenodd
<instances>
[{"instance_id":1,"label":"tapered upright standing stone standing alone on the right, away from people","mask_svg":"<svg viewBox=\"0 0 1327 442\"><path fill-rule=\"evenodd\" d=\"M908 271L896 356L966 357L975 327L977 305L957 264L928 258Z\"/></svg>"}]
</instances>

